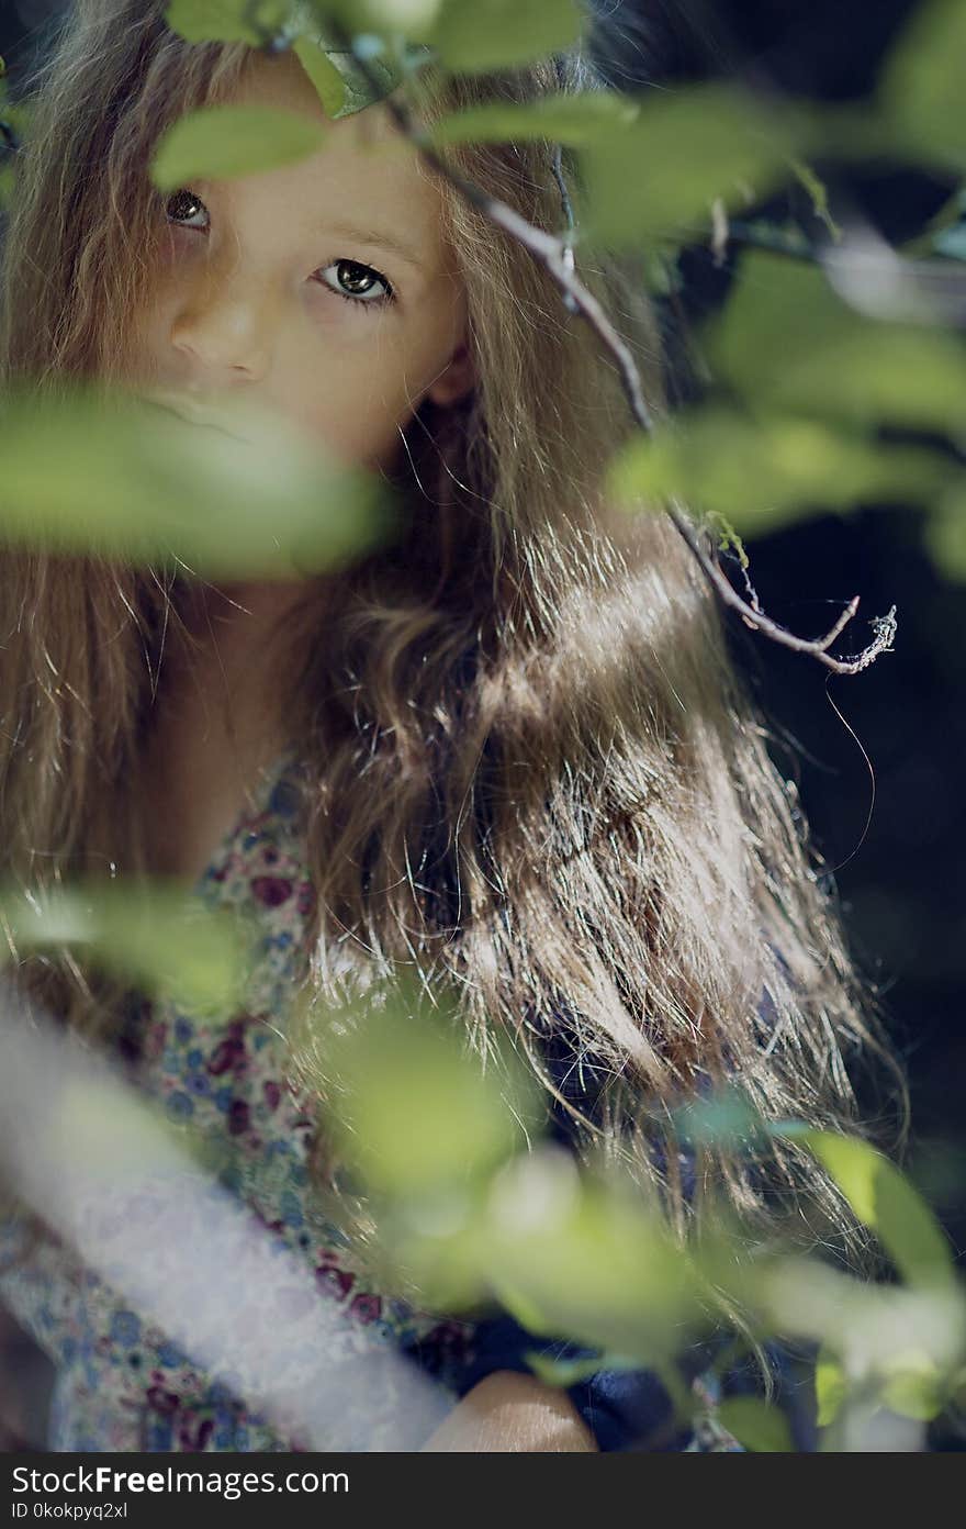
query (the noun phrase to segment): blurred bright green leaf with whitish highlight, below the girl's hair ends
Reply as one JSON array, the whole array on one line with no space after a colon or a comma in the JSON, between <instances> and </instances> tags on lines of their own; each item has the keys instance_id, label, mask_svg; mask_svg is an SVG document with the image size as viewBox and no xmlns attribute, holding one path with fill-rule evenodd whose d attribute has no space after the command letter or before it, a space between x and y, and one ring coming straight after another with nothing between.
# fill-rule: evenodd
<instances>
[{"instance_id":1,"label":"blurred bright green leaf with whitish highlight, below the girl's hair ends","mask_svg":"<svg viewBox=\"0 0 966 1529\"><path fill-rule=\"evenodd\" d=\"M436 1119L433 1093L430 1084L430 1118ZM333 1098L330 1089L327 1119ZM408 1098L410 1135L423 1130L425 1098L426 1084L417 1081ZM365 1119L368 1124L371 1116ZM463 1125L451 1144L448 1168L443 1164L449 1185L466 1156L465 1133ZM359 1142L353 1153L358 1157L365 1150ZM407 1156L413 1151L408 1142L402 1150ZM442 1162L443 1153L440 1144L434 1156ZM628 1368L673 1359L702 1329L702 1275L660 1216L642 1205L639 1194L628 1194L627 1185L584 1179L556 1145L521 1151L495 1174L477 1157L463 1168L460 1190L477 1168L483 1174L469 1196L457 1196L462 1203L454 1214L436 1167L422 1176L437 1196L436 1211L400 1182L399 1188L390 1185L397 1194L390 1216L385 1209L381 1214L385 1243L413 1271L433 1309L446 1303L454 1309L454 1295L471 1304L495 1298L535 1338L569 1336L624 1356L621 1364ZM387 1174L379 1171L378 1179L385 1188Z\"/></svg>"}]
</instances>

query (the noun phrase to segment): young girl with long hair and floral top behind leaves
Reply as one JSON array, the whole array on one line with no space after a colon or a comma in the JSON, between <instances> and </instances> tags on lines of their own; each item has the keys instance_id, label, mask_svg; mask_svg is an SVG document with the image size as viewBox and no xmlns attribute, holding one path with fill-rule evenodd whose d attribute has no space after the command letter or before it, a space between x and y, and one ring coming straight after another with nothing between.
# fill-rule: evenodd
<instances>
[{"instance_id":1,"label":"young girl with long hair and floral top behind leaves","mask_svg":"<svg viewBox=\"0 0 966 1529\"><path fill-rule=\"evenodd\" d=\"M515 1035L558 1138L578 1157L602 1145L682 1235L708 1197L767 1228L770 1185L853 1246L842 1200L792 1142L752 1164L654 1127L656 1105L731 1075L766 1118L856 1128L845 1061L882 1046L879 1018L793 783L683 540L654 506L628 518L605 500L601 468L634 425L546 272L426 170L385 101L327 121L292 52L190 44L164 9L73 5L35 81L3 375L122 382L180 410L251 399L382 474L405 529L324 576L249 584L3 553L6 875L173 875L263 928L246 1012L222 1026L66 950L23 959L17 982L121 1053L174 1121L228 1139L226 1182L310 1261L319 1301L446 1388L452 1413L422 1446L735 1448L674 1428L648 1370L558 1390L523 1355L587 1350L374 1287L364 1223L339 1240L319 1212L339 1182L312 1109L324 1078L287 1020L295 992L339 1001L416 965L452 991L480 1053ZM420 113L601 84L576 49L430 69ZM326 122L326 147L159 196L160 133L228 101ZM552 144L448 156L559 232ZM636 263L578 246L576 268L660 411ZM50 1448L293 1446L52 1234L21 1234L11 1219L0 1289L57 1365ZM356 1417L330 1445L379 1437Z\"/></svg>"}]
</instances>

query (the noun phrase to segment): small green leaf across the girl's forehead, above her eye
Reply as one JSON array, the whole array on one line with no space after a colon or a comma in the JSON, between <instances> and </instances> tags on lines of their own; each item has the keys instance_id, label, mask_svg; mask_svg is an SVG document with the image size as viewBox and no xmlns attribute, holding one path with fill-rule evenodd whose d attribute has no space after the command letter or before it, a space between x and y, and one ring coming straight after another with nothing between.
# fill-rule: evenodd
<instances>
[{"instance_id":1,"label":"small green leaf across the girl's forehead, above her eye","mask_svg":"<svg viewBox=\"0 0 966 1529\"><path fill-rule=\"evenodd\" d=\"M261 106L211 106L179 118L162 135L151 164L159 191L205 176L229 180L307 159L326 144L326 128L295 112Z\"/></svg>"}]
</instances>

